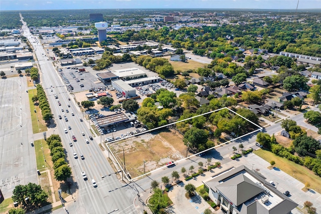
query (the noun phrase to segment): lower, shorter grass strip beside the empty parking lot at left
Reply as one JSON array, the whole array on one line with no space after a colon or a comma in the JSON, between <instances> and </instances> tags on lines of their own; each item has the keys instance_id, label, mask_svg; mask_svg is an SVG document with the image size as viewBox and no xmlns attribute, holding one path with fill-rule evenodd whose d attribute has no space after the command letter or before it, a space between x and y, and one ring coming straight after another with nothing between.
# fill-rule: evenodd
<instances>
[{"instance_id":1,"label":"lower, shorter grass strip beside the empty parking lot at left","mask_svg":"<svg viewBox=\"0 0 321 214\"><path fill-rule=\"evenodd\" d=\"M34 145L35 145L35 152L36 152L37 169L40 170L45 167L48 167L48 165L46 165L46 162L44 159L44 154L45 154L46 160L51 160L50 150L49 150L47 142L43 139L36 140L34 142ZM43 149L41 147L43 147Z\"/></svg>"}]
</instances>

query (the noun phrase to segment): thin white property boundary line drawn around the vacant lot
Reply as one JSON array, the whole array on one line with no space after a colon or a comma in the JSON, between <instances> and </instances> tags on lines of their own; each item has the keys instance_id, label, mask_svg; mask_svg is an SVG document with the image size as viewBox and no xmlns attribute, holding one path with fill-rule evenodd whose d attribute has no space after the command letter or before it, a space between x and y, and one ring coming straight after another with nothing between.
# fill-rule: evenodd
<instances>
[{"instance_id":1,"label":"thin white property boundary line drawn around the vacant lot","mask_svg":"<svg viewBox=\"0 0 321 214\"><path fill-rule=\"evenodd\" d=\"M247 135L249 135L249 134L253 134L253 133L257 132L257 131L262 131L262 130L263 130L263 127L261 127L261 126L255 124L255 123L253 123L252 121L250 121L250 120L248 120L247 118L243 117L242 115L236 113L235 111L229 109L228 107L224 107L224 108L220 108L220 109L217 109L217 110L213 110L213 111L206 112L206 113L204 113L204 114L199 114L199 115L197 115L197 116L193 116L193 117L190 117L190 118L187 118L187 119L184 119L184 120L180 120L180 121L177 121L177 122L174 122L174 123L171 123L171 124L167 124L167 125L160 126L160 127L157 127L157 128L153 128L153 129L150 129L150 130L147 130L147 131L144 131L144 132L140 132L140 133L137 133L137 134L132 135L132 137L134 137L134 136L136 136L136 135L141 135L141 134L144 134L144 133L147 133L147 132L155 131L155 130L157 130L157 129L165 128L165 127L167 127L167 126L174 125L174 124L180 123L180 122L184 122L184 121L186 121L186 120L190 120L190 119L193 119L193 118L196 118L196 117L199 117L199 116L211 114L211 113L216 112L216 111L221 111L221 110L223 110L223 109L228 109L229 111L233 112L234 114L236 114L236 115L240 116L241 118L247 120L248 122L252 123L252 124L255 125L256 127L258 127L258 129L254 130L254 131L252 131L252 132L249 132L249 133L247 133L247 134L244 134L244 135L242 135L242 136L236 137L236 138L234 138L234 139L232 139L232 140L226 141L225 143L222 143L222 144L220 144L220 145L217 145L217 146L208 148L208 149L206 149L206 150L204 150L204 151L201 151L201 152L199 152L199 153L196 153L196 154L193 154L193 155L191 155L191 156L188 156L188 157L182 158L182 159L180 159L180 160L177 160L176 162L181 162L181 161L183 161L183 160L189 159L189 158L194 157L194 156L196 156L196 155L198 155L198 154L201 154L201 153L203 153L203 152L207 152L207 151L209 151L209 150L211 150L211 149L215 149L215 148L217 148L217 147L221 147L221 146L223 146L223 145L225 145L225 144L227 144L227 143L229 143L229 142L232 142L232 141L234 141L234 140L237 140L237 139L242 138L242 137L244 137L244 136L247 136ZM124 138L124 139L126 139L126 138ZM137 179L139 179L140 177L143 177L143 176L145 176L145 175L147 175L147 174L150 174L150 173L155 172L155 171L157 171L157 170L159 170L159 169L163 169L163 168L167 167L166 165L164 165L164 166L161 166L161 167L156 168L156 169L154 169L154 170L151 170L151 171L149 171L149 172L147 172L147 173L144 173L144 174L142 174L142 175L139 175L139 176L137 176L137 177L134 177L134 178L129 179L129 177L127 176L125 170L122 168L121 164L118 162L118 160L117 160L117 158L115 157L114 153L111 152L111 149L110 149L109 146L108 146L109 143L115 143L115 142L120 141L120 140L123 140L123 139L118 139L118 140L115 140L115 141L112 141L112 142L105 142L105 145L106 145L106 147L107 147L108 150L109 150L108 152L111 153L111 155L113 156L114 160L117 162L119 168L121 169L121 171L123 172L123 174L125 175L125 177L126 177L126 179L127 179L128 181L137 180Z\"/></svg>"}]
</instances>

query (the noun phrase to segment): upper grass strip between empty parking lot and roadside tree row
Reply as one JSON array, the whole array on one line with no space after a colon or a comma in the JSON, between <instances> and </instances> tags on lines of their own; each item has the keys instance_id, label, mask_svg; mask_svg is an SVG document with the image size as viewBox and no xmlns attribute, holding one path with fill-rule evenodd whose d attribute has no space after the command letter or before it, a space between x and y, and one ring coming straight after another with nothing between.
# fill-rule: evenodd
<instances>
[{"instance_id":1,"label":"upper grass strip between empty parking lot and roadside tree row","mask_svg":"<svg viewBox=\"0 0 321 214\"><path fill-rule=\"evenodd\" d=\"M30 104L30 113L31 113L31 122L32 122L32 131L33 133L39 133L39 132L44 132L47 131L47 126L45 121L43 121L42 119L42 115L41 115L41 110L39 108L39 106L35 106L34 102L32 101L32 97L34 96L34 94L37 94L37 89L31 89L28 90L28 94L29 94L29 104ZM37 113L35 113L35 110L37 111ZM39 118L39 122L37 119L37 116Z\"/></svg>"}]
</instances>

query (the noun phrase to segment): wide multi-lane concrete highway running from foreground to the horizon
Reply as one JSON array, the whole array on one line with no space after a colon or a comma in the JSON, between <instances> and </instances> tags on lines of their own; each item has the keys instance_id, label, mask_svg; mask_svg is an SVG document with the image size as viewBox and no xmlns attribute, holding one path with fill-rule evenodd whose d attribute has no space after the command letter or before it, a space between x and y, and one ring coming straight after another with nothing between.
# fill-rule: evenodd
<instances>
[{"instance_id":1,"label":"wide multi-lane concrete highway running from foreground to the horizon","mask_svg":"<svg viewBox=\"0 0 321 214\"><path fill-rule=\"evenodd\" d=\"M66 87L62 84L57 71L55 70L53 63L46 56L46 51L42 47L39 39L33 36L26 23L24 23L24 35L28 38L38 59L38 63L41 70L41 82L46 91L49 99L50 107L54 114L54 121L56 131L61 136L62 143L66 150L67 159L72 167L73 180L78 187L78 198L75 205L69 205L68 210L75 213L110 213L115 209L118 209L114 213L132 213L135 208L132 204L135 190L127 185L118 181L114 170L109 165L107 158L101 152L98 143L89 139L89 135L92 135L89 130L89 123L86 120L81 122L79 120L82 117L82 113L79 108L73 102L71 95L68 93ZM58 95L58 99L61 106L58 105L57 100L53 96ZM70 101L68 100L70 98ZM67 105L70 105L68 107ZM62 112L61 109L64 109ZM69 113L66 112L68 109ZM75 116L71 115L74 112ZM68 122L64 119L59 119L58 115L66 114ZM71 126L71 130L68 129ZM68 130L68 133L64 133L64 129ZM81 134L84 132L85 136ZM75 135L77 141L72 140L72 135ZM85 139L89 140L87 144ZM69 142L73 143L73 146L69 146ZM73 157L73 152L76 152L78 157ZM83 154L85 159L80 158L80 154ZM85 171L88 180L82 178L81 172ZM102 178L102 176L107 177ZM95 179L97 187L93 187L91 179Z\"/></svg>"}]
</instances>

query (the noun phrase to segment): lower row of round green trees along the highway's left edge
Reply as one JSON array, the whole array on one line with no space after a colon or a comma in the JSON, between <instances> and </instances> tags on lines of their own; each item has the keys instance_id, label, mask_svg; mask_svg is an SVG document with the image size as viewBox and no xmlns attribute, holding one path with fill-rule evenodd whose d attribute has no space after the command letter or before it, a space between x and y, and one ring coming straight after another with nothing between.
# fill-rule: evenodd
<instances>
[{"instance_id":1,"label":"lower row of round green trees along the highway's left edge","mask_svg":"<svg viewBox=\"0 0 321 214\"><path fill-rule=\"evenodd\" d=\"M52 162L54 163L54 174L56 180L66 181L71 175L71 168L65 161L66 155L61 143L61 138L58 134L53 134L47 138L47 143L50 149Z\"/></svg>"}]
</instances>

